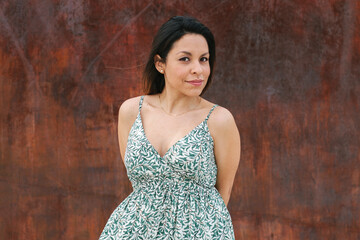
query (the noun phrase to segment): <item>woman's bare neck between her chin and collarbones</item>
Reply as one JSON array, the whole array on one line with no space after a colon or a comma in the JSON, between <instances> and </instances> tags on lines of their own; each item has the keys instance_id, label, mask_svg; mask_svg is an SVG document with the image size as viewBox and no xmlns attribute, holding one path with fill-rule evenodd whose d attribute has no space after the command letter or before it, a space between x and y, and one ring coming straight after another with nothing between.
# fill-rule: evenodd
<instances>
[{"instance_id":1,"label":"woman's bare neck between her chin and collarbones","mask_svg":"<svg viewBox=\"0 0 360 240\"><path fill-rule=\"evenodd\" d=\"M173 117L183 115L199 107L200 96L186 96L183 94L170 94L164 88L159 94L159 106L168 115Z\"/></svg>"}]
</instances>

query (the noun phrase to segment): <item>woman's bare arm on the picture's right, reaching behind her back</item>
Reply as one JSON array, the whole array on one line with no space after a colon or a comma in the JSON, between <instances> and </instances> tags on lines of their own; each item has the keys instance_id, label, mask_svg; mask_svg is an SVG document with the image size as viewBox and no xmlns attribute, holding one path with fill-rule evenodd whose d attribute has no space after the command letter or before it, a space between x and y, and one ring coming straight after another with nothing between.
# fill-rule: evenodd
<instances>
[{"instance_id":1,"label":"woman's bare arm on the picture's right, reaching behind her back","mask_svg":"<svg viewBox=\"0 0 360 240\"><path fill-rule=\"evenodd\" d=\"M213 118L209 119L209 129L214 140L218 168L215 187L227 206L240 162L241 141L232 114L223 107L218 107L214 113Z\"/></svg>"}]
</instances>

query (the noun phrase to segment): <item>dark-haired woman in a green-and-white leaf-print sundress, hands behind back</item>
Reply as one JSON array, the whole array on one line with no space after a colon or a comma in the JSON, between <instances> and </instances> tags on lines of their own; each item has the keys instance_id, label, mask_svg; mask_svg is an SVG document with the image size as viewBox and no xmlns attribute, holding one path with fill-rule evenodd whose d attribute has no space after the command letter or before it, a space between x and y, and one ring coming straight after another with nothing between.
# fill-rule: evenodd
<instances>
[{"instance_id":1,"label":"dark-haired woman in a green-and-white leaf-print sundress, hands behind back","mask_svg":"<svg viewBox=\"0 0 360 240\"><path fill-rule=\"evenodd\" d=\"M154 38L145 93L119 110L120 153L133 192L100 239L234 239L227 210L240 160L231 113L201 95L215 62L210 30L173 17Z\"/></svg>"}]
</instances>

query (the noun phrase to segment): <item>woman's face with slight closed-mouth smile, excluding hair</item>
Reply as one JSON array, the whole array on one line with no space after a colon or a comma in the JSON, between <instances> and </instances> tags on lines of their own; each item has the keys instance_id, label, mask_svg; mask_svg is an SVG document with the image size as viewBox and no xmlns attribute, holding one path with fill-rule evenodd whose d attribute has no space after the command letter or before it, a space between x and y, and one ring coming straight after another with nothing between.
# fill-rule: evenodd
<instances>
[{"instance_id":1,"label":"woman's face with slight closed-mouth smile, excluding hair","mask_svg":"<svg viewBox=\"0 0 360 240\"><path fill-rule=\"evenodd\" d=\"M191 33L177 40L165 64L161 65L166 90L199 96L210 75L209 56L209 47L202 35Z\"/></svg>"}]
</instances>

